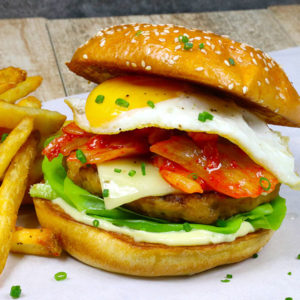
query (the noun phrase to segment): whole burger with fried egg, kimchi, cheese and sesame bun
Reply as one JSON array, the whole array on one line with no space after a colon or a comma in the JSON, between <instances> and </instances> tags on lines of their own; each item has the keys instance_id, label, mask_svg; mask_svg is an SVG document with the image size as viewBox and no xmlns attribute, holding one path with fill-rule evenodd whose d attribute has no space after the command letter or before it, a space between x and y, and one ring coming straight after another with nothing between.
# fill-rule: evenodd
<instances>
[{"instance_id":1,"label":"whole burger with fried egg, kimchi, cheese and sesame bun","mask_svg":"<svg viewBox=\"0 0 300 300\"><path fill-rule=\"evenodd\" d=\"M40 224L78 260L136 276L195 274L258 252L300 189L288 138L300 99L259 49L174 25L113 26L68 68L98 84L43 150Z\"/></svg>"}]
</instances>

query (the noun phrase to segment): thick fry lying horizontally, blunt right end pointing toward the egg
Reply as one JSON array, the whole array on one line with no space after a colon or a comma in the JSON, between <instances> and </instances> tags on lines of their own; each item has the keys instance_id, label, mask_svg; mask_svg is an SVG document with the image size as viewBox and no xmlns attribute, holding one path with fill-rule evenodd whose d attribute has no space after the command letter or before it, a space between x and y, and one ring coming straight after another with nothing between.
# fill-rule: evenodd
<instances>
[{"instance_id":1,"label":"thick fry lying horizontally, blunt right end pointing toward the egg","mask_svg":"<svg viewBox=\"0 0 300 300\"><path fill-rule=\"evenodd\" d=\"M0 127L13 129L26 116L33 117L34 129L42 136L57 132L66 117L58 112L40 108L22 107L0 100Z\"/></svg>"}]
</instances>

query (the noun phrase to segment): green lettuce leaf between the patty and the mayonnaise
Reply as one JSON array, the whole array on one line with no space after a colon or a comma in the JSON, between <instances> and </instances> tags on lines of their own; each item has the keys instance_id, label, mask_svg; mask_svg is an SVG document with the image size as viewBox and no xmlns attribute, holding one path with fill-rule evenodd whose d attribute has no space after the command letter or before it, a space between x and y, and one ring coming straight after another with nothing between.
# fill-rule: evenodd
<instances>
[{"instance_id":1,"label":"green lettuce leaf between the patty and the mayonnaise","mask_svg":"<svg viewBox=\"0 0 300 300\"><path fill-rule=\"evenodd\" d=\"M166 220L150 218L122 207L105 209L102 198L82 189L67 177L61 154L52 161L45 158L43 172L46 183L34 185L30 190L32 197L48 200L60 197L81 213L95 219L109 221L116 226L125 226L135 230L169 232L203 229L216 233L231 234L239 230L243 221L251 223L256 229L277 230L286 213L285 199L277 196L270 203L261 204L250 212L237 214L227 220L218 220L214 225L168 223Z\"/></svg>"}]
</instances>

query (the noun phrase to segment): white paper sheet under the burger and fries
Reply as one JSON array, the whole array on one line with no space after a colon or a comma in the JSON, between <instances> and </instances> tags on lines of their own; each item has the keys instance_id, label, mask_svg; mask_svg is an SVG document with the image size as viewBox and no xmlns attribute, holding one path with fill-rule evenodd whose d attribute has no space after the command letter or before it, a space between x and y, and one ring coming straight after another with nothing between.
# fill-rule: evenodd
<instances>
[{"instance_id":1,"label":"white paper sheet under the burger and fries","mask_svg":"<svg viewBox=\"0 0 300 300\"><path fill-rule=\"evenodd\" d=\"M300 91L300 61L297 59L300 48L271 55L283 65ZM71 118L72 114L62 100L47 102L44 107L67 113ZM291 137L290 148L296 158L296 169L300 171L300 129L276 126L278 129ZM11 299L12 285L21 285L22 298L38 300L299 299L300 260L296 257L300 253L300 192L283 186L281 196L287 198L287 216L256 259L191 277L145 279L97 270L66 254L58 259L11 254L0 279L0 299ZM35 223L32 216L30 211L22 211L19 222L30 226ZM68 279L55 281L53 276L59 271L67 272ZM233 278L229 283L222 283L226 274L232 274Z\"/></svg>"}]
</instances>

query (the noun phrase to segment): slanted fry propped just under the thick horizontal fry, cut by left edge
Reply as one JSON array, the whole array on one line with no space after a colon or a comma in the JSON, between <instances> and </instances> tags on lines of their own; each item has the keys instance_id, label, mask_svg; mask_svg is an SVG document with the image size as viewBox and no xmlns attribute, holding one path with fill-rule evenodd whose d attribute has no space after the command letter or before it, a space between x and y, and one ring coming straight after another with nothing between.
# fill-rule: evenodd
<instances>
[{"instance_id":1,"label":"slanted fry propped just under the thick horizontal fry, cut by left edge","mask_svg":"<svg viewBox=\"0 0 300 300\"><path fill-rule=\"evenodd\" d=\"M25 143L32 129L33 118L25 117L0 144L0 178L3 177L12 158Z\"/></svg>"}]
</instances>

